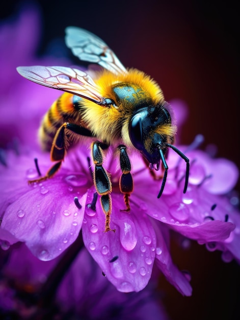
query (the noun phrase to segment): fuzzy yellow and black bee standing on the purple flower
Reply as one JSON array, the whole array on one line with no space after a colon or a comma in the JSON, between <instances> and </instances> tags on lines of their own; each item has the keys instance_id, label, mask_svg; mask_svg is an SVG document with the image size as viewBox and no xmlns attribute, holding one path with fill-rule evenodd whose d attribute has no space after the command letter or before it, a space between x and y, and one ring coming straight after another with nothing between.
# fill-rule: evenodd
<instances>
[{"instance_id":1,"label":"fuzzy yellow and black bee standing on the purple flower","mask_svg":"<svg viewBox=\"0 0 240 320\"><path fill-rule=\"evenodd\" d=\"M42 120L39 130L43 150L50 152L55 164L45 176L30 183L45 180L60 169L69 146L76 138L91 139L94 163L93 182L105 214L104 232L111 231L112 184L103 167L104 150L118 150L125 211L130 210L129 196L134 190L128 150L140 152L152 169L163 166L161 197L168 173L166 151L173 149L186 163L186 192L189 159L174 145L177 126L174 113L165 101L159 85L142 71L126 69L114 52L94 34L76 27L66 28L65 42L73 55L82 61L96 63L100 71L89 72L64 66L20 66L18 73L33 82L64 91ZM114 230L112 230L114 231Z\"/></svg>"}]
</instances>

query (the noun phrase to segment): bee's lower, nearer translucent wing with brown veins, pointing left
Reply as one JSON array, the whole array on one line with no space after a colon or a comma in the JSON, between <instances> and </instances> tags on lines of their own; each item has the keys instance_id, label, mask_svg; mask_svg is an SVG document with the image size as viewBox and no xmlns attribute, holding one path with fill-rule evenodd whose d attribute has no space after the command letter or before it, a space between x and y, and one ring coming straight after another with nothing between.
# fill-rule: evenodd
<instances>
[{"instance_id":1,"label":"bee's lower, nearer translucent wing with brown veins, pointing left","mask_svg":"<svg viewBox=\"0 0 240 320\"><path fill-rule=\"evenodd\" d=\"M19 66L26 79L47 87L63 90L100 104L103 100L93 79L84 71L64 66Z\"/></svg>"}]
</instances>

